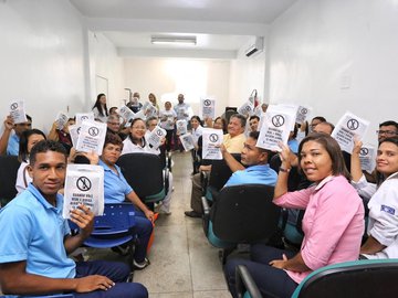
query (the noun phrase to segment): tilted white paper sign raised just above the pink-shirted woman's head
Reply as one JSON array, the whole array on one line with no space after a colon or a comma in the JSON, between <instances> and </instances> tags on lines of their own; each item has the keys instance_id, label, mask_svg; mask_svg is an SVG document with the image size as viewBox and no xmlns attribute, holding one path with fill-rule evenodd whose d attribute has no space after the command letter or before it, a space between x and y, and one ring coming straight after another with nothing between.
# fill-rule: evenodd
<instances>
[{"instance_id":1,"label":"tilted white paper sign raised just above the pink-shirted woman's head","mask_svg":"<svg viewBox=\"0 0 398 298\"><path fill-rule=\"evenodd\" d=\"M338 120L332 137L338 142L343 151L353 152L354 139L362 140L369 127L369 121L347 111Z\"/></svg>"}]
</instances>

